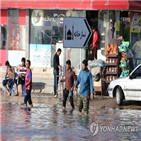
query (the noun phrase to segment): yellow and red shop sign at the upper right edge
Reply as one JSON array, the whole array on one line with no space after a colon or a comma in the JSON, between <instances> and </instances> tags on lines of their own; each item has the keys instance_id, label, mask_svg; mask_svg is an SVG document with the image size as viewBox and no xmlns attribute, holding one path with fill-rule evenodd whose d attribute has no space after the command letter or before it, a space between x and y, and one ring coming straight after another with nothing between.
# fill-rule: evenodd
<instances>
[{"instance_id":1,"label":"yellow and red shop sign at the upper right edge","mask_svg":"<svg viewBox=\"0 0 141 141\"><path fill-rule=\"evenodd\" d=\"M141 14L131 13L130 21L130 32L139 33L141 31Z\"/></svg>"}]
</instances>

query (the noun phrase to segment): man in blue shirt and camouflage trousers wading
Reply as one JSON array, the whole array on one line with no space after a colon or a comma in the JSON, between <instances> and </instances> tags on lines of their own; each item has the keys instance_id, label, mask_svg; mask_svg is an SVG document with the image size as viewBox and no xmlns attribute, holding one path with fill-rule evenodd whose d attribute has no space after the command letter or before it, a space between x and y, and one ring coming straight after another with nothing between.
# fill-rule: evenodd
<instances>
[{"instance_id":1,"label":"man in blue shirt and camouflage trousers wading","mask_svg":"<svg viewBox=\"0 0 141 141\"><path fill-rule=\"evenodd\" d=\"M79 73L79 76L77 78L77 81L75 83L75 88L80 84L80 90L78 95L78 111L82 112L82 109L84 107L85 115L88 114L89 111L89 102L90 102L90 94L91 99L93 99L93 78L91 72L88 70L88 61L84 60L82 62L82 70Z\"/></svg>"}]
</instances>

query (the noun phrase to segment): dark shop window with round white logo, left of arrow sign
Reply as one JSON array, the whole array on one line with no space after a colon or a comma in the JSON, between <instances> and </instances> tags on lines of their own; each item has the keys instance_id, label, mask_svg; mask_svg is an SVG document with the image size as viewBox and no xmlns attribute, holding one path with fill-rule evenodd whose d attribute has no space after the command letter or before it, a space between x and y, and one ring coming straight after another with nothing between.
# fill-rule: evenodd
<instances>
[{"instance_id":1,"label":"dark shop window with round white logo, left of arrow sign","mask_svg":"<svg viewBox=\"0 0 141 141\"><path fill-rule=\"evenodd\" d=\"M30 44L56 44L63 40L64 17L65 11L32 10Z\"/></svg>"}]
</instances>

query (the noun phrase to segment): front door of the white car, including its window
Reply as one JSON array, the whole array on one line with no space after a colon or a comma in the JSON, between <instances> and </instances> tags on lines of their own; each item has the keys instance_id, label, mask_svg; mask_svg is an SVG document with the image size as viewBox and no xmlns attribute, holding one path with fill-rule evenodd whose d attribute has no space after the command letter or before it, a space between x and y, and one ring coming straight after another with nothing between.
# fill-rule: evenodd
<instances>
[{"instance_id":1,"label":"front door of the white car, including its window","mask_svg":"<svg viewBox=\"0 0 141 141\"><path fill-rule=\"evenodd\" d=\"M141 99L141 66L129 76L125 90L127 99Z\"/></svg>"}]
</instances>

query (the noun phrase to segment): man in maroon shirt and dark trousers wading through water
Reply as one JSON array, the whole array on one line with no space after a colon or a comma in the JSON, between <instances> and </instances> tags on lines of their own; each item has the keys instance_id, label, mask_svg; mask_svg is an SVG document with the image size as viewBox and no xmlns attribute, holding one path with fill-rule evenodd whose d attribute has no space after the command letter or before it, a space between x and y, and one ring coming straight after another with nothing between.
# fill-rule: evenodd
<instances>
[{"instance_id":1,"label":"man in maroon shirt and dark trousers wading through water","mask_svg":"<svg viewBox=\"0 0 141 141\"><path fill-rule=\"evenodd\" d=\"M70 104L72 106L72 110L74 110L73 104L73 88L74 82L76 81L75 72L71 69L71 61L66 61L66 74L65 79L62 79L61 82L65 82L65 89L63 90L63 110L66 108L66 101L69 95Z\"/></svg>"}]
</instances>

